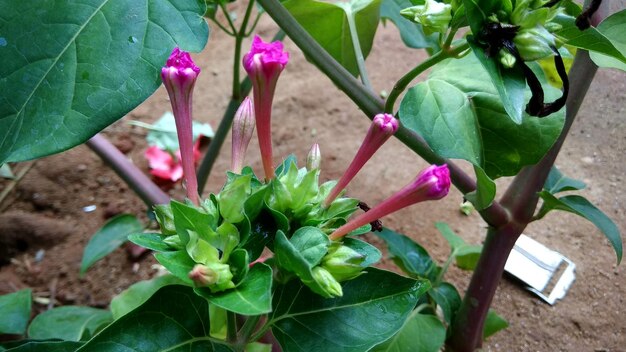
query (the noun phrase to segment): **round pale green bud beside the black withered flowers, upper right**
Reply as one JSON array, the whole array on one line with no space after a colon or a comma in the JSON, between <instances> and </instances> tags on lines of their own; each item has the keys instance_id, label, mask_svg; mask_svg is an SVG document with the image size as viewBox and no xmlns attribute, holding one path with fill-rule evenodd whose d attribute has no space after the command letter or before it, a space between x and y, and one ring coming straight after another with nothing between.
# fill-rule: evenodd
<instances>
[{"instance_id":1,"label":"round pale green bud beside the black withered flowers, upper right","mask_svg":"<svg viewBox=\"0 0 626 352\"><path fill-rule=\"evenodd\" d=\"M524 61L535 61L554 55L554 36L544 27L533 27L520 30L513 43Z\"/></svg>"}]
</instances>

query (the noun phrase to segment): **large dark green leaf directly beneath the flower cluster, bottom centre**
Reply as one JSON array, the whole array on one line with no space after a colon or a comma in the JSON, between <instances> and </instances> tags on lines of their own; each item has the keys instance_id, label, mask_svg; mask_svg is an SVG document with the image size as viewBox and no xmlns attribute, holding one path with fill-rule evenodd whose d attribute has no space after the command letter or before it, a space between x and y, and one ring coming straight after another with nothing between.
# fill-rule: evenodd
<instances>
[{"instance_id":1,"label":"large dark green leaf directly beneath the flower cluster, bottom centre","mask_svg":"<svg viewBox=\"0 0 626 352\"><path fill-rule=\"evenodd\" d=\"M343 297L324 299L297 281L280 286L270 316L283 351L367 351L398 331L430 287L370 268L343 283ZM358 327L358 329L355 329Z\"/></svg>"}]
</instances>

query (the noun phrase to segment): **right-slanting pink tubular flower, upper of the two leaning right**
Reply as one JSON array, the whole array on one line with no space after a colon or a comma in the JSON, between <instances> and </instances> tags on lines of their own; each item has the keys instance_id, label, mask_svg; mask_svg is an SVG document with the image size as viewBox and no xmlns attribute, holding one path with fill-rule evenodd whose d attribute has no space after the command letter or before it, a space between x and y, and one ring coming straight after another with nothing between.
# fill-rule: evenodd
<instances>
[{"instance_id":1,"label":"right-slanting pink tubular flower, upper of the two leaning right","mask_svg":"<svg viewBox=\"0 0 626 352\"><path fill-rule=\"evenodd\" d=\"M329 206L330 203L337 198L339 193L348 186L348 183L352 181L354 176L361 170L363 165L376 153L376 151L398 130L398 120L390 114L378 114L374 116L374 120L370 125L367 135L361 147L357 151L352 163L346 169L346 172L341 176L341 179L337 185L330 192L324 206Z\"/></svg>"}]
</instances>

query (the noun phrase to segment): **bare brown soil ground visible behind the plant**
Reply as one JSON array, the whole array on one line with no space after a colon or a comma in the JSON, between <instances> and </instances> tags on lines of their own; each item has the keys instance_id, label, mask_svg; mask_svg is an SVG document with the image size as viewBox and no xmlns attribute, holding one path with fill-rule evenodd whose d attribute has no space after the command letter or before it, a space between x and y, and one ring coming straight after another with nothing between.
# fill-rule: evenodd
<instances>
[{"instance_id":1,"label":"bare brown soil ground visible behind the plant","mask_svg":"<svg viewBox=\"0 0 626 352\"><path fill-rule=\"evenodd\" d=\"M274 32L274 25L265 17L260 35L268 39ZM292 42L287 40L286 46L291 61L280 78L274 103L275 162L290 153L303 160L317 142L323 156L322 178L338 178L369 122ZM204 52L194 55L203 70L196 85L195 119L214 128L229 97L232 52L231 38L215 30ZM393 26L381 25L367 61L373 86L389 91L395 80L423 57L403 46ZM622 233L626 231L624 92L626 74L616 70L598 72L557 160L564 174L587 183L584 195L604 210ZM161 88L107 128L104 135L147 171L143 157L145 131L130 126L128 121L154 122L169 109L167 94ZM248 162L260 173L254 139L249 150ZM227 141L209 179L208 191L219 190L229 163ZM24 168L30 170L0 204L0 259L9 262L0 266L0 294L32 287L34 295L43 298L35 304L37 311L52 304L106 307L112 296L130 284L155 275L151 256L137 259L119 249L79 277L83 248L107 218L131 213L147 221L147 207L86 146L12 166L18 173ZM373 205L426 166L400 142L391 140L348 191ZM499 188L507 182L499 181ZM0 192L10 184L0 181ZM182 198L180 184L168 192ZM461 199L461 194L453 190L441 201L405 209L385 218L384 223L411 236L443 262L449 248L437 233L435 221L447 222L470 243L481 243L485 233L478 214L464 216L459 212ZM85 207L91 205L95 210L88 211ZM502 280L493 308L510 322L510 327L490 338L484 350L626 351L626 272L616 265L613 249L603 235L591 223L567 213L551 213L544 221L531 224L525 233L576 263L576 281L563 300L550 306L518 283ZM389 261L383 265L391 267ZM452 268L447 279L463 291L469 275Z\"/></svg>"}]
</instances>

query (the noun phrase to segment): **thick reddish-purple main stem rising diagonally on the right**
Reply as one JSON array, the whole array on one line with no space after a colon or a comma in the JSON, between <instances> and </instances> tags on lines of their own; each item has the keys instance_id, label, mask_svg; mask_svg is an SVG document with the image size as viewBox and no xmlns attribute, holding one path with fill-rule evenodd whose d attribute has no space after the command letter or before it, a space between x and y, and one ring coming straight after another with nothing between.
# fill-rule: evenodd
<instances>
[{"instance_id":1,"label":"thick reddish-purple main stem rising diagonally on the right","mask_svg":"<svg viewBox=\"0 0 626 352\"><path fill-rule=\"evenodd\" d=\"M592 19L597 25L606 17L608 1ZM504 272L504 265L515 241L532 220L539 201L538 192L565 142L565 138L576 118L578 109L587 94L598 67L589 58L589 53L578 50L570 69L571 90L567 98L565 124L555 144L536 165L524 168L507 188L500 204L508 209L511 220L499 228L491 227L483 246L483 255L472 275L461 309L452 326L448 347L455 352L471 352L482 346L485 318Z\"/></svg>"}]
</instances>

